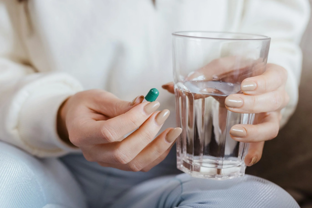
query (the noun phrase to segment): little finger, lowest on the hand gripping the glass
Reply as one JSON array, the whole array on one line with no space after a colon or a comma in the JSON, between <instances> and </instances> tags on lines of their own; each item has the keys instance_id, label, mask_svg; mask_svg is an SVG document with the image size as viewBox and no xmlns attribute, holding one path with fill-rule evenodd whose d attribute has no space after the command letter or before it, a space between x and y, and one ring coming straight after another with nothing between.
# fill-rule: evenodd
<instances>
[{"instance_id":1,"label":"little finger, lowest on the hand gripping the glass","mask_svg":"<svg viewBox=\"0 0 312 208\"><path fill-rule=\"evenodd\" d=\"M262 156L264 142L250 143L248 153L245 157L246 166L252 166L256 164Z\"/></svg>"}]
</instances>

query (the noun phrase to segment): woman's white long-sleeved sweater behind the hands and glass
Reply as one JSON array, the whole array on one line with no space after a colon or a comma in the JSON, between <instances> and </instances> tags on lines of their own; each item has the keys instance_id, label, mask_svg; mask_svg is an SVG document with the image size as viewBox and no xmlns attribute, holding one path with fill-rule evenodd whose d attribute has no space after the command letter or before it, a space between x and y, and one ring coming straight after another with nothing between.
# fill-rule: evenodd
<instances>
[{"instance_id":1,"label":"woman's white long-sleeved sweater behind the hands and glass","mask_svg":"<svg viewBox=\"0 0 312 208\"><path fill-rule=\"evenodd\" d=\"M57 135L60 104L100 88L132 100L150 88L171 111L173 31L233 31L270 36L269 63L288 71L290 103L298 100L300 38L307 0L0 0L0 139L39 157L76 149Z\"/></svg>"}]
</instances>

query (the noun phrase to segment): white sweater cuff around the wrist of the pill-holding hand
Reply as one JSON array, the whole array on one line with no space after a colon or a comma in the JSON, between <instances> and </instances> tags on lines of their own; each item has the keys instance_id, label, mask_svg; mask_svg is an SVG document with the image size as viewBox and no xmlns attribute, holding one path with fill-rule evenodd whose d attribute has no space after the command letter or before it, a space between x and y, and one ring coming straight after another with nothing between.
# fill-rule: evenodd
<instances>
[{"instance_id":1,"label":"white sweater cuff around the wrist of the pill-holding hand","mask_svg":"<svg viewBox=\"0 0 312 208\"><path fill-rule=\"evenodd\" d=\"M57 133L57 112L61 104L82 87L73 83L50 82L32 89L22 104L18 133L22 143L37 157L57 157L80 152L69 146Z\"/></svg>"}]
</instances>

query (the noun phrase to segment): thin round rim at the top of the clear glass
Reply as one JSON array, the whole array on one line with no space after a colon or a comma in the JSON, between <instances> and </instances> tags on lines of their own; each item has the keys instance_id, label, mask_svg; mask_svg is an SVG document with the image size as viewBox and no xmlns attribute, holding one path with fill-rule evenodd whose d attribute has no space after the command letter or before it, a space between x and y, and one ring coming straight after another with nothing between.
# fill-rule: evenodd
<instances>
[{"instance_id":1,"label":"thin round rim at the top of the clear glass","mask_svg":"<svg viewBox=\"0 0 312 208\"><path fill-rule=\"evenodd\" d=\"M182 35L179 33L187 33L187 32L201 32L201 33L214 33L214 34L236 34L236 35L249 35L249 36L256 36L258 38L218 38L218 37L198 37L198 36L190 36L190 35ZM264 36L264 35L256 35L250 33L241 33L241 32L219 32L219 31L178 31L173 32L172 36L181 36L186 38L199 38L199 39L214 39L214 40L237 40L237 41L252 41L252 40L270 40L271 37Z\"/></svg>"}]
</instances>

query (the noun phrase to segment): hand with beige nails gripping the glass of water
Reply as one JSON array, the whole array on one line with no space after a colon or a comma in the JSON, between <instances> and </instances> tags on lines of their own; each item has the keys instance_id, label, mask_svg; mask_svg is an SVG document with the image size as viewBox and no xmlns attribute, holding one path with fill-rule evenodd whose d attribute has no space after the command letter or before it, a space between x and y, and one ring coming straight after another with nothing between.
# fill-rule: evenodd
<instances>
[{"instance_id":1,"label":"hand with beige nails gripping the glass of water","mask_svg":"<svg viewBox=\"0 0 312 208\"><path fill-rule=\"evenodd\" d=\"M254 124L236 124L230 130L231 137L239 142L248 142L245 157L247 166L261 159L264 142L277 136L280 128L280 110L289 102L285 90L287 71L275 64L267 64L266 71L259 76L242 81L243 94L231 94L225 100L226 108L232 112L255 113ZM173 84L163 85L173 92Z\"/></svg>"}]
</instances>

